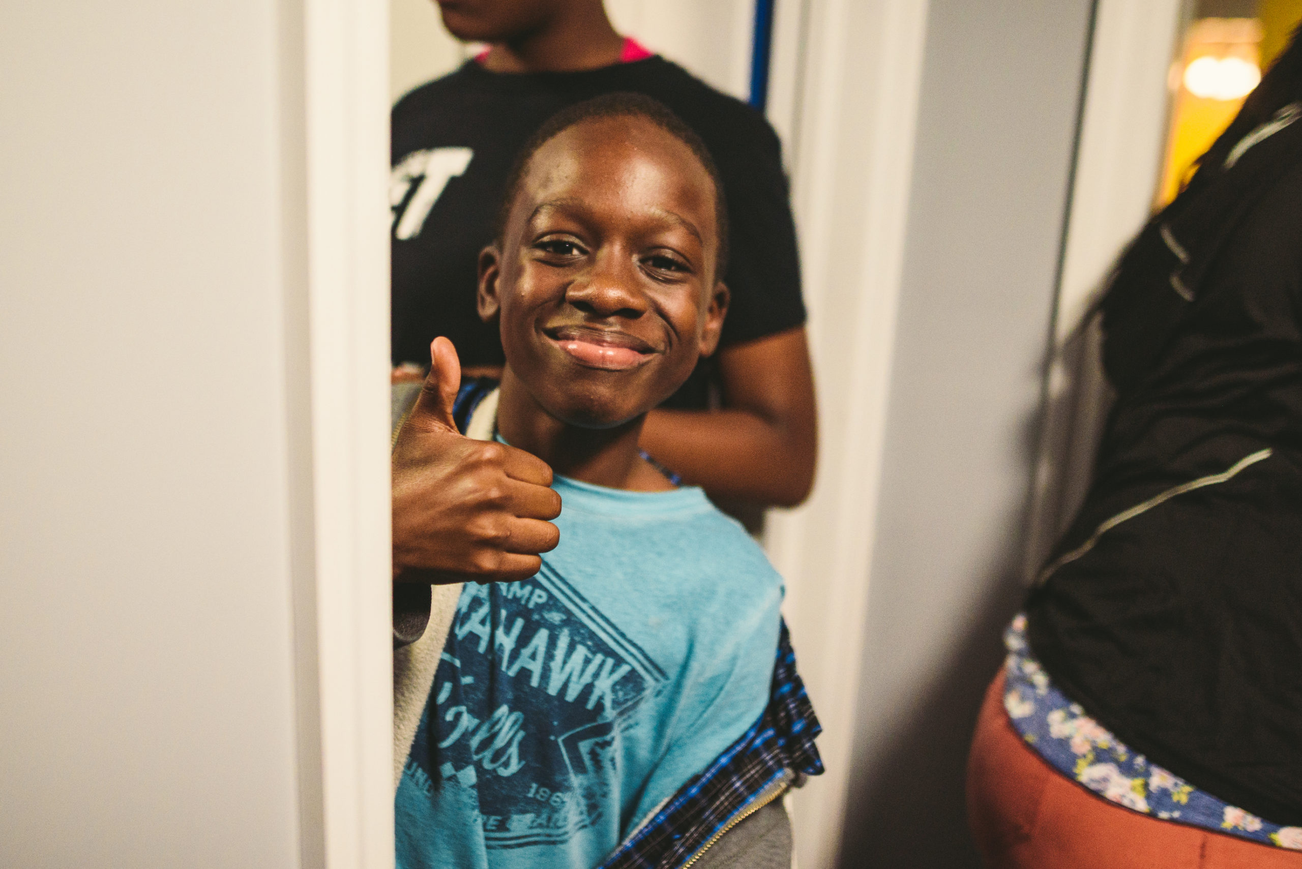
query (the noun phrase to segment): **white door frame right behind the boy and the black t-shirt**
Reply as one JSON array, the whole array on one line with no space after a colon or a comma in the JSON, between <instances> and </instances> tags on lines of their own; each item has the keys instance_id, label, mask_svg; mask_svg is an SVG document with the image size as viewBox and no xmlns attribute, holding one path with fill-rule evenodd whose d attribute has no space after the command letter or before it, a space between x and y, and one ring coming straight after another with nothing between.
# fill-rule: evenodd
<instances>
[{"instance_id":1,"label":"white door frame right behind the boy and the black t-shirt","mask_svg":"<svg viewBox=\"0 0 1302 869\"><path fill-rule=\"evenodd\" d=\"M798 791L802 869L838 857L868 606L927 0L779 3L769 117L788 148L819 401L819 474L769 514L827 771Z\"/></svg>"}]
</instances>

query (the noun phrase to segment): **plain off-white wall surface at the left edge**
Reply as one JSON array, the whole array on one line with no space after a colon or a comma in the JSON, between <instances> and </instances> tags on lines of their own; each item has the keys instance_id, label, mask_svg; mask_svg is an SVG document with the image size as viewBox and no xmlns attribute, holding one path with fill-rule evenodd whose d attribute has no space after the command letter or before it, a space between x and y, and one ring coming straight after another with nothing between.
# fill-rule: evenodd
<instances>
[{"instance_id":1,"label":"plain off-white wall surface at the left edge","mask_svg":"<svg viewBox=\"0 0 1302 869\"><path fill-rule=\"evenodd\" d=\"M5 866L299 862L290 13L0 5Z\"/></svg>"}]
</instances>

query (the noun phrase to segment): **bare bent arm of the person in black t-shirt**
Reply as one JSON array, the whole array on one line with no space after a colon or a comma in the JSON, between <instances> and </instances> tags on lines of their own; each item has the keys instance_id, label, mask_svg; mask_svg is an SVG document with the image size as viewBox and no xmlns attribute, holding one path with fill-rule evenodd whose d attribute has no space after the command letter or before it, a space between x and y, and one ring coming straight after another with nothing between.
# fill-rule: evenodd
<instances>
[{"instance_id":1,"label":"bare bent arm of the person in black t-shirt","mask_svg":"<svg viewBox=\"0 0 1302 869\"><path fill-rule=\"evenodd\" d=\"M642 448L710 494L796 506L814 484L818 427L805 329L719 351L723 407L654 410Z\"/></svg>"}]
</instances>

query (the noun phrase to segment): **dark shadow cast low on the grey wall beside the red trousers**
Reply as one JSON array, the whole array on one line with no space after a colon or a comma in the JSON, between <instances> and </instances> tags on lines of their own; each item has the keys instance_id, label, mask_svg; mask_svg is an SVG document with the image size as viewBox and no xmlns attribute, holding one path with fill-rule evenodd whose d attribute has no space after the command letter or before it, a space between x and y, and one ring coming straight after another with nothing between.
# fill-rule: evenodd
<instances>
[{"instance_id":1,"label":"dark shadow cast low on the grey wall beside the red trousers","mask_svg":"<svg viewBox=\"0 0 1302 869\"><path fill-rule=\"evenodd\" d=\"M1027 467L1039 423L1035 414L1022 424ZM1027 497L1006 518L1004 545L991 567L974 578L979 592L963 635L926 689L914 695L911 708L891 717L891 732L862 764L867 774L852 781L841 840L844 869L980 866L965 822L967 748L986 688L1004 661L1004 628L1027 593L1021 565L1029 506ZM872 667L867 661L870 680Z\"/></svg>"}]
</instances>

